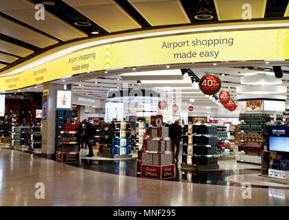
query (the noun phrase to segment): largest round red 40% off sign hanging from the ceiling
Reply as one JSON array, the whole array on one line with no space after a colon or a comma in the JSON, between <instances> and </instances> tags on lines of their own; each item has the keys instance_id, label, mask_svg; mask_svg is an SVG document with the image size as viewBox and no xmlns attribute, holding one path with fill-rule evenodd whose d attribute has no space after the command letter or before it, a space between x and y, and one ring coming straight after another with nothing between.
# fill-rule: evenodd
<instances>
[{"instance_id":1,"label":"largest round red 40% off sign hanging from the ceiling","mask_svg":"<svg viewBox=\"0 0 289 220\"><path fill-rule=\"evenodd\" d=\"M201 78L199 87L203 94L214 95L221 89L221 80L215 74L206 74Z\"/></svg>"}]
</instances>

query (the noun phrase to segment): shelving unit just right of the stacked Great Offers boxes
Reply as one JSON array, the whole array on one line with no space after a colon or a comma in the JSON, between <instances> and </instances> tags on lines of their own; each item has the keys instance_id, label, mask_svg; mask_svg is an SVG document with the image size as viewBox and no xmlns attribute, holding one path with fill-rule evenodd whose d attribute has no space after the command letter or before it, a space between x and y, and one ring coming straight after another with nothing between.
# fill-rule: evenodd
<instances>
[{"instance_id":1,"label":"shelving unit just right of the stacked Great Offers boxes","mask_svg":"<svg viewBox=\"0 0 289 220\"><path fill-rule=\"evenodd\" d=\"M217 127L185 125L181 169L217 169Z\"/></svg>"}]
</instances>

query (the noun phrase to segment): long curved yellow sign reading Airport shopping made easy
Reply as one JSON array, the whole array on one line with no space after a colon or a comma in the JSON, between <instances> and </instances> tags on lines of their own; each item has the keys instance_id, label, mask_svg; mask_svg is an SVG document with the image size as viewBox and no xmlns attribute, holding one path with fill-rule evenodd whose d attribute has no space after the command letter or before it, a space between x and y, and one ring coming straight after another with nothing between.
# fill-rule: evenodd
<instances>
[{"instance_id":1,"label":"long curved yellow sign reading Airport shopping made easy","mask_svg":"<svg viewBox=\"0 0 289 220\"><path fill-rule=\"evenodd\" d=\"M161 36L74 52L26 72L0 77L0 91L102 69L170 63L289 59L289 29Z\"/></svg>"}]
</instances>

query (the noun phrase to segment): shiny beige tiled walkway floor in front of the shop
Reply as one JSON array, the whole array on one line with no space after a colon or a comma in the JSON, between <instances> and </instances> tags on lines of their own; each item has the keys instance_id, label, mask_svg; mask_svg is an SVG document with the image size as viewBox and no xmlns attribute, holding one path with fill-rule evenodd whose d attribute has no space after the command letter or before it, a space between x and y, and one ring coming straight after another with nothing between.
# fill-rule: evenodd
<instances>
[{"instance_id":1,"label":"shiny beige tiled walkway floor in front of the shop","mask_svg":"<svg viewBox=\"0 0 289 220\"><path fill-rule=\"evenodd\" d=\"M45 199L35 199L42 182ZM289 190L114 175L0 148L0 206L288 206ZM245 193L246 194L246 193ZM249 193L250 194L250 193Z\"/></svg>"}]
</instances>

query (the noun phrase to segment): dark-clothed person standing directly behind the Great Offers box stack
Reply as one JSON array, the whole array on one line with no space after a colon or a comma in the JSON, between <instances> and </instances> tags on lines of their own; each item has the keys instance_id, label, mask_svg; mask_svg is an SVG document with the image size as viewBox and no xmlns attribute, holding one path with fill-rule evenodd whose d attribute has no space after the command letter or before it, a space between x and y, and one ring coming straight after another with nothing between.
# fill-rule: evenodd
<instances>
[{"instance_id":1,"label":"dark-clothed person standing directly behind the Great Offers box stack","mask_svg":"<svg viewBox=\"0 0 289 220\"><path fill-rule=\"evenodd\" d=\"M174 160L179 161L179 147L181 145L181 125L180 120L175 120L174 124L171 124L169 127L169 136L172 141L172 155ZM175 146L177 147L177 151L175 154Z\"/></svg>"}]
</instances>

